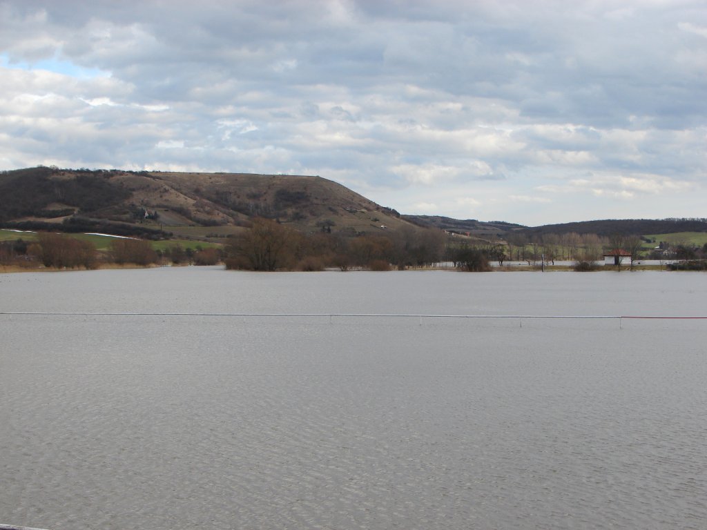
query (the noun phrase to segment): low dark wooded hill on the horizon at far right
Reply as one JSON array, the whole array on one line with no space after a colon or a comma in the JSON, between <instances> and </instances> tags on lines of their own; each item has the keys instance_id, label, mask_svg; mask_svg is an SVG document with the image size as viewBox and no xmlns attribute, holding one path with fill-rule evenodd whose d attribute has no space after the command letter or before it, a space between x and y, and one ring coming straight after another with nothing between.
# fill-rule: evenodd
<instances>
[{"instance_id":1,"label":"low dark wooded hill on the horizon at far right","mask_svg":"<svg viewBox=\"0 0 707 530\"><path fill-rule=\"evenodd\" d=\"M707 218L670 219L603 219L543 225L524 230L531 234L613 234L643 235L670 234L674 232L707 232Z\"/></svg>"}]
</instances>

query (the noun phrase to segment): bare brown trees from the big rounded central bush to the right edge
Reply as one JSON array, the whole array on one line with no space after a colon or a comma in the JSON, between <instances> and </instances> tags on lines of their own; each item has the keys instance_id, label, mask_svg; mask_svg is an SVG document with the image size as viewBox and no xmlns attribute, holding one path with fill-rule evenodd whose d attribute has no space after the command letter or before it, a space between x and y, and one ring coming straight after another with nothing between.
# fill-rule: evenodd
<instances>
[{"instance_id":1,"label":"bare brown trees from the big rounded central bush to the right edge","mask_svg":"<svg viewBox=\"0 0 707 530\"><path fill-rule=\"evenodd\" d=\"M436 230L407 226L397 232L347 237L332 233L322 225L322 232L304 235L274 220L256 218L252 228L230 237L224 254L228 269L254 271L316 271L337 267L341 270L389 270L422 267L448 262L465 271L490 270L490 261L503 266L506 260L525 261L530 266L573 261L578 270L591 270L604 252L622 249L633 261L653 259L703 259L707 245L700 249L683 245L643 256L647 240L638 235L612 234L534 234L515 232L506 242L472 240ZM628 264L628 263L627 263Z\"/></svg>"}]
</instances>

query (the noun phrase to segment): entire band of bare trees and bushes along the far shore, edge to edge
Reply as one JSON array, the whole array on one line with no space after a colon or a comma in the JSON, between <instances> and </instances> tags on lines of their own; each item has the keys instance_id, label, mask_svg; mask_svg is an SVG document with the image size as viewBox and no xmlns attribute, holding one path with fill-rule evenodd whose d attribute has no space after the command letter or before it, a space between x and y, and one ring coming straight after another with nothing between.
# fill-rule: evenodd
<instances>
[{"instance_id":1,"label":"entire band of bare trees and bushes along the far shore, edge to edge","mask_svg":"<svg viewBox=\"0 0 707 530\"><path fill-rule=\"evenodd\" d=\"M185 248L175 243L156 250L148 240L116 238L105 252L98 252L88 241L54 232L38 232L35 241L0 242L0 264L33 266L43 264L60 269L94 269L100 264L197 264L224 262L228 269L253 271L321 271L337 268L387 271L448 264L463 271L491 270L490 262L525 261L530 266L554 264L556 260L574 261L577 270L592 270L604 252L623 249L631 259L621 258L626 266L641 259L648 241L636 235L544 234L527 237L518 232L506 242L487 242L453 235L435 228L409 225L395 232L350 235L332 232L322 224L321 231L303 234L276 220L256 218L249 229L229 237L221 248ZM707 245L689 242L662 242L660 248L645 254L653 259L699 261L707 258ZM621 263L620 263L621 264ZM691 267L696 266L692 264Z\"/></svg>"}]
</instances>

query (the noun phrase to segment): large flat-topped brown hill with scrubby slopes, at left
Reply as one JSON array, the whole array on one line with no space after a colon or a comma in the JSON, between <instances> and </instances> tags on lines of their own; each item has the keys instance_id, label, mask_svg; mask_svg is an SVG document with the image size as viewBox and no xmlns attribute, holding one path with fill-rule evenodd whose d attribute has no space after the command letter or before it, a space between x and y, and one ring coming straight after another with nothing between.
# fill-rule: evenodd
<instances>
[{"instance_id":1,"label":"large flat-topped brown hill with scrubby slopes, at left","mask_svg":"<svg viewBox=\"0 0 707 530\"><path fill-rule=\"evenodd\" d=\"M25 229L225 237L255 216L351 235L410 225L392 208L307 175L34 167L0 174L0 197L0 223Z\"/></svg>"}]
</instances>

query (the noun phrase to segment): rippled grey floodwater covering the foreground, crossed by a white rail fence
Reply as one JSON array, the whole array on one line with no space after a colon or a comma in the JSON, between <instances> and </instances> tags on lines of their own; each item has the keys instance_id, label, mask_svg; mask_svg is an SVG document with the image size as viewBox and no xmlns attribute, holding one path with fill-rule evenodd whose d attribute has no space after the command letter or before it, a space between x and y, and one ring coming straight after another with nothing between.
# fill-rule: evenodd
<instances>
[{"instance_id":1,"label":"rippled grey floodwater covering the foreground, crossed by a white rail fence","mask_svg":"<svg viewBox=\"0 0 707 530\"><path fill-rule=\"evenodd\" d=\"M707 320L528 317L705 317L706 293L672 272L0 274L0 312L49 313L0 314L0 523L704 529Z\"/></svg>"}]
</instances>

